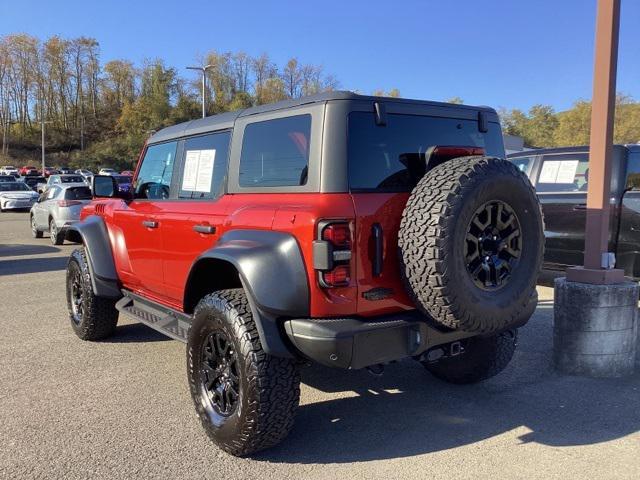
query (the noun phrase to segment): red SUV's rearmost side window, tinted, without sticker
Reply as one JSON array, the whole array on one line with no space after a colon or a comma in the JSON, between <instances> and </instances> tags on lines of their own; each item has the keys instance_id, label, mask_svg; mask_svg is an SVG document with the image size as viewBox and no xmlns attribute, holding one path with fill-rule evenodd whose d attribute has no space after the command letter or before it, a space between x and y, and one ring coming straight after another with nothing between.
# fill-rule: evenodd
<instances>
[{"instance_id":1,"label":"red SUV's rearmost side window, tinted, without sticker","mask_svg":"<svg viewBox=\"0 0 640 480\"><path fill-rule=\"evenodd\" d=\"M311 115L247 125L240 155L240 186L305 185L310 137Z\"/></svg>"}]
</instances>

